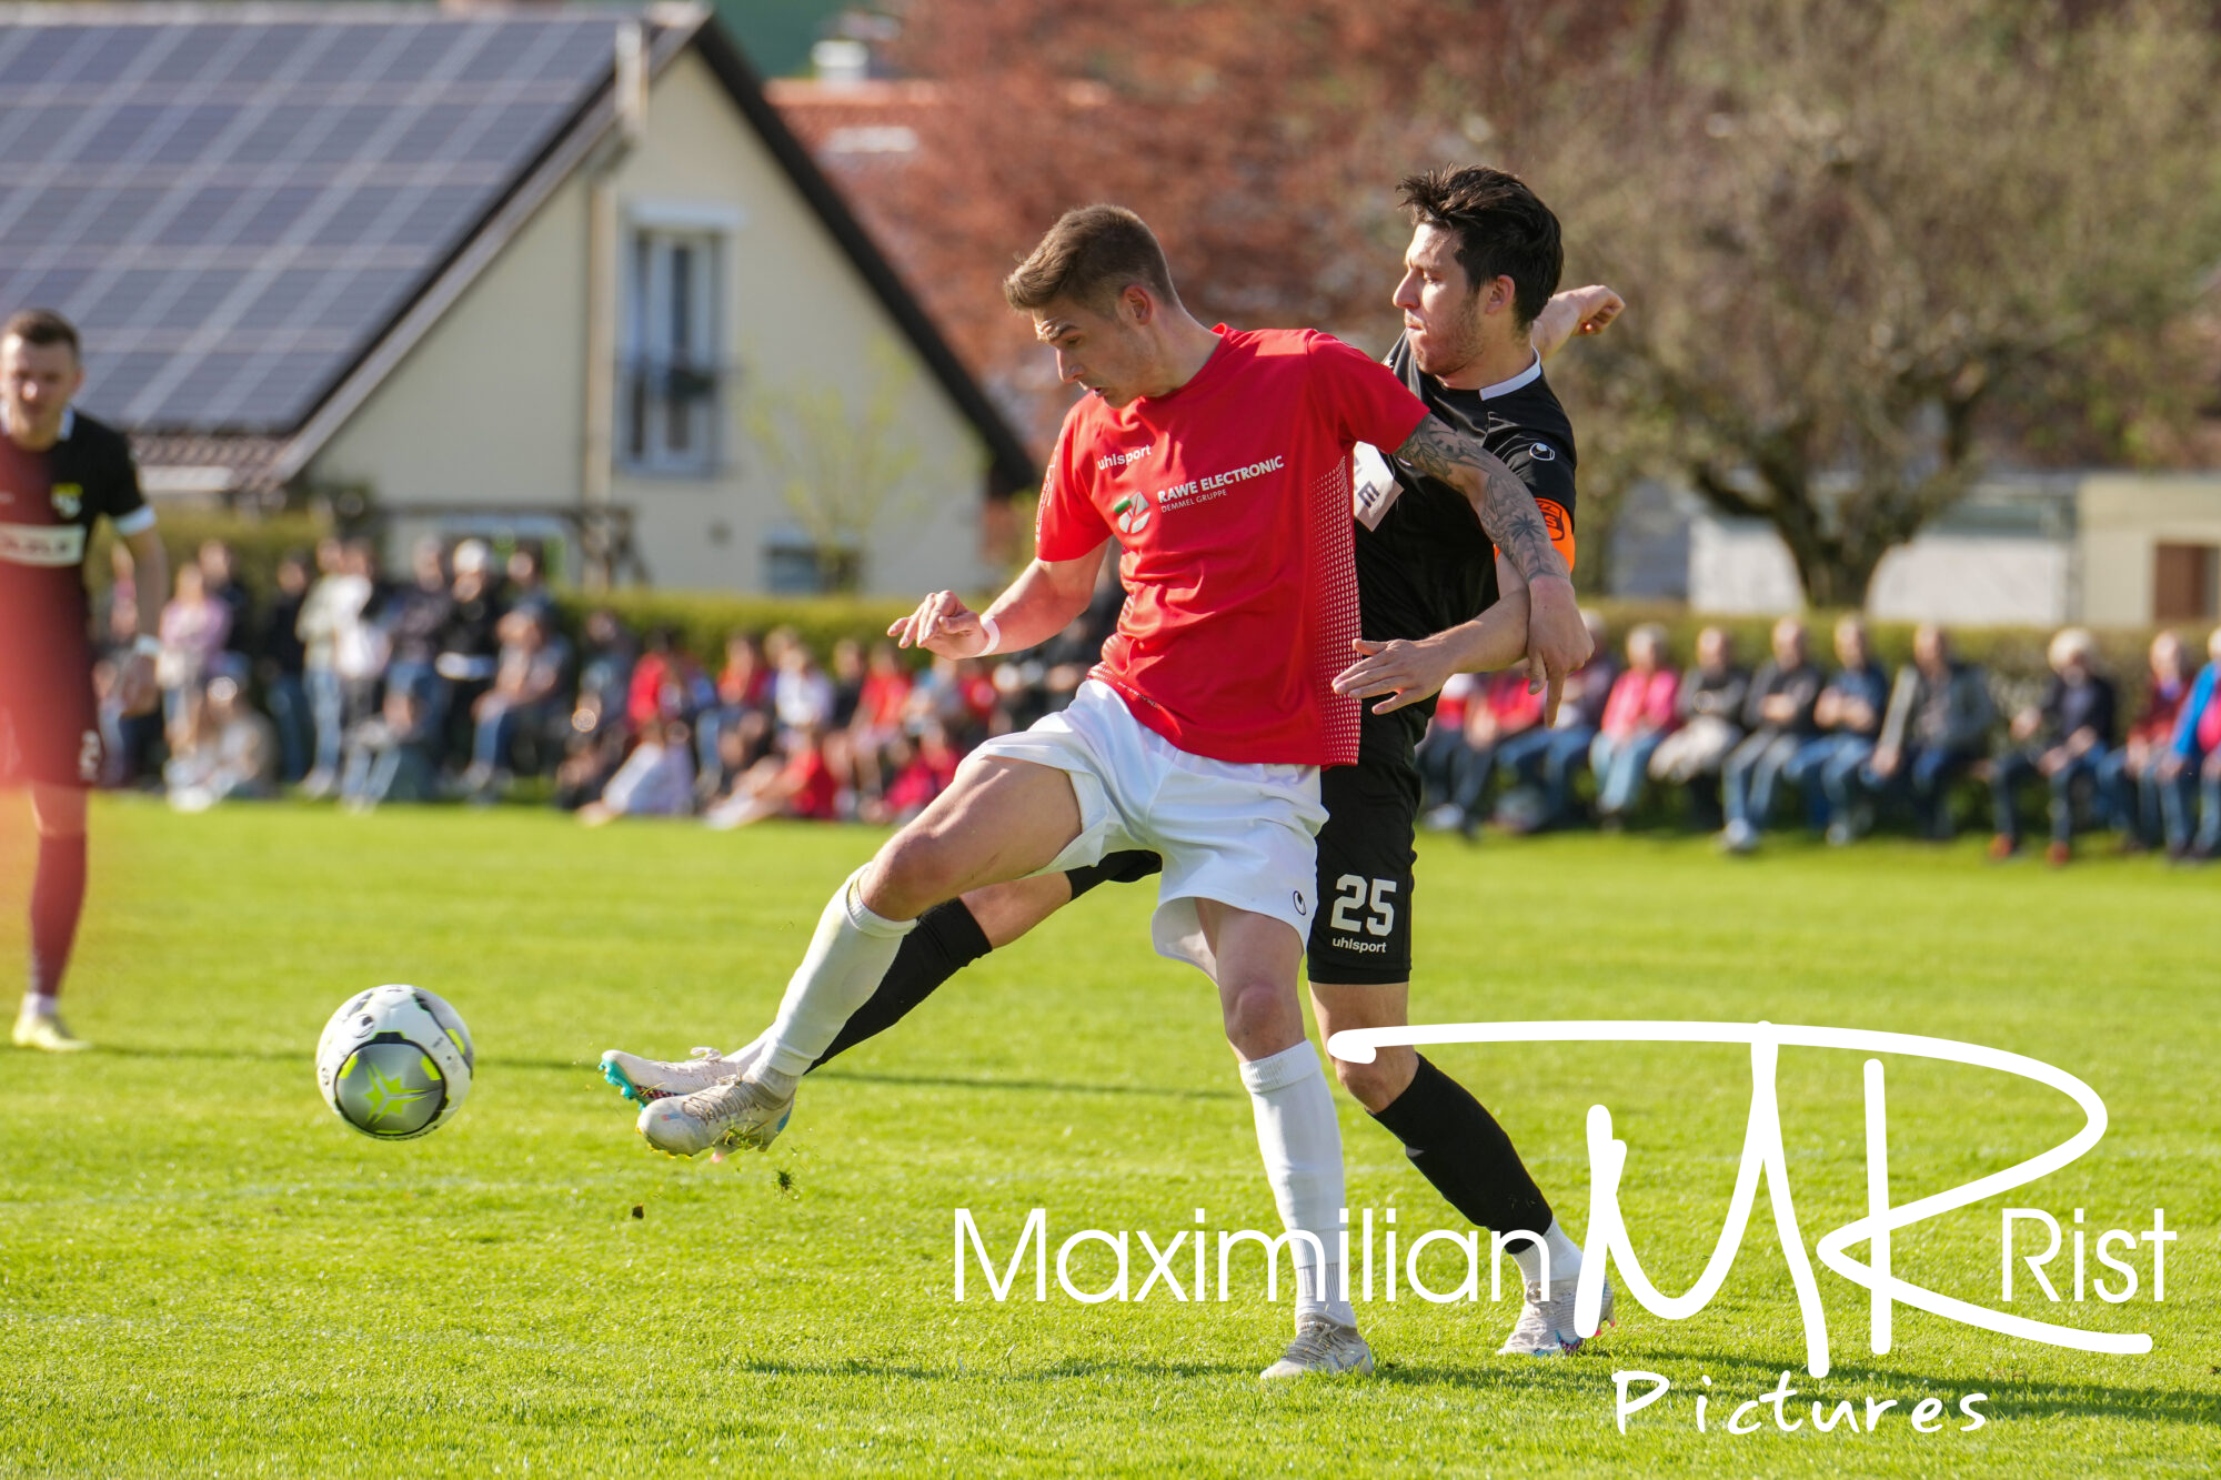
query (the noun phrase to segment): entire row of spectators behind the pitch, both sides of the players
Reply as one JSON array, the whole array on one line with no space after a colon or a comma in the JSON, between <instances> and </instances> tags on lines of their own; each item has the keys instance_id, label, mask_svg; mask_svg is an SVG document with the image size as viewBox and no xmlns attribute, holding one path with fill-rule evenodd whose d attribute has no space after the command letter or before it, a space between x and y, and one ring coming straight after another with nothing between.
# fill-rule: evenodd
<instances>
[{"instance_id":1,"label":"entire row of spectators behind the pitch, both sides of the players","mask_svg":"<svg viewBox=\"0 0 2221 1480\"><path fill-rule=\"evenodd\" d=\"M324 540L278 564L255 602L218 540L175 576L162 609L162 707L124 716L113 664L98 671L113 787L169 791L182 809L293 787L358 811L389 802L533 796L600 824L697 816L900 822L948 784L979 740L1062 707L1117 620L1106 584L1086 616L1033 653L904 662L891 642L820 656L791 629L735 631L715 671L669 629L633 633L593 611L573 638L535 549L495 560L482 540L422 542L406 580L373 544ZM107 636L129 644L129 571ZM2003 691L1915 633L1895 676L1866 624L1835 624L1835 662L1797 618L1755 667L1706 627L1675 667L1668 633L1639 624L1570 676L1557 720L1524 671L1457 676L1419 744L1426 824L1475 838L1684 820L1748 853L1806 827L1850 844L1877 827L1948 838L1954 804L1988 789L1990 853L2032 827L2063 864L2083 833L2177 860L2221 853L2221 629L2199 667L2159 633L2148 671L2117 680L2092 636L2068 627L2041 693ZM1617 647L1617 651L1615 651Z\"/></svg>"}]
</instances>

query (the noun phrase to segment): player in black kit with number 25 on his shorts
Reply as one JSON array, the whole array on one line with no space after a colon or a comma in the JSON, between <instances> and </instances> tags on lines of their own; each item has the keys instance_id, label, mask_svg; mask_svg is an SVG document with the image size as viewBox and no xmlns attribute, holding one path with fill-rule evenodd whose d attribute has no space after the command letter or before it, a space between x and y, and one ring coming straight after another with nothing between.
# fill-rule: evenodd
<instances>
[{"instance_id":1,"label":"player in black kit with number 25 on his shorts","mask_svg":"<svg viewBox=\"0 0 2221 1480\"><path fill-rule=\"evenodd\" d=\"M1401 196L1415 229L1395 293L1404 338L1388 367L1435 416L1479 436L1526 482L1570 569L1575 442L1541 360L1572 333L1604 329L1621 302L1597 287L1552 298L1564 264L1557 218L1508 173L1430 171L1404 180ZM1464 493L1361 451L1355 516L1364 640L1335 687L1377 702L1364 713L1357 764L1321 773L1328 822L1319 831L1319 918L1308 947L1321 1038L1408 1022L1419 811L1413 751L1450 673L1508 667L1526 647L1524 582L1497 558ZM893 1027L964 964L1095 884L1133 882L1157 867L1155 853L1113 853L1091 869L997 884L928 911L826 1058ZM602 1067L629 1098L651 1100L740 1073L751 1049L731 1058L697 1051L693 1062L606 1053ZM1381 1049L1370 1064L1335 1060L1335 1073L1466 1220L1541 1236L1508 1244L1526 1304L1504 1351L1575 1351L1581 1253L1504 1127L1408 1047Z\"/></svg>"}]
</instances>

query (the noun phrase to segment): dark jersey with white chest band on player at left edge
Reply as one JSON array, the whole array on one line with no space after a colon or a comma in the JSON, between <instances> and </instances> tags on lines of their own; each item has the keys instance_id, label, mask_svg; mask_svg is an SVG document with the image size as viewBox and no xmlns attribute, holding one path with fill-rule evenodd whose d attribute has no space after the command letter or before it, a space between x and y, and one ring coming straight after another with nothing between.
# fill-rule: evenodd
<instances>
[{"instance_id":1,"label":"dark jersey with white chest band on player at left edge","mask_svg":"<svg viewBox=\"0 0 2221 1480\"><path fill-rule=\"evenodd\" d=\"M20 662L84 651L84 549L102 516L118 533L153 527L120 431L64 411L47 451L0 433L0 649Z\"/></svg>"}]
</instances>

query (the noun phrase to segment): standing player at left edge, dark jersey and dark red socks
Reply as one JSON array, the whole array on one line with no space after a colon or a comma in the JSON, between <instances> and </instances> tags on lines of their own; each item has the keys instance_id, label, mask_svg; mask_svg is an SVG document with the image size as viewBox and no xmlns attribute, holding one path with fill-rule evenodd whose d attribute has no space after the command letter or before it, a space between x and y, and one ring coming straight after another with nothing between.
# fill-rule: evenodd
<instances>
[{"instance_id":1,"label":"standing player at left edge, dark jersey and dark red socks","mask_svg":"<svg viewBox=\"0 0 2221 1480\"><path fill-rule=\"evenodd\" d=\"M155 627L169 562L131 447L71 409L84 384L78 331L27 309L0 324L0 780L29 782L38 827L31 978L18 1049L84 1049L56 1011L84 904L84 793L100 780L84 547L107 518L131 551L138 642L118 678L124 709L155 702Z\"/></svg>"}]
</instances>

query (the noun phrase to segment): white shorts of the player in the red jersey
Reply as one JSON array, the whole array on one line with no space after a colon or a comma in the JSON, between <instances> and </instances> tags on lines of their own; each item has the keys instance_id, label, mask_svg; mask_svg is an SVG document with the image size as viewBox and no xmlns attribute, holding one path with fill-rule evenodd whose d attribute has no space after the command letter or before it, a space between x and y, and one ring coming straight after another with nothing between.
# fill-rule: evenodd
<instances>
[{"instance_id":1,"label":"white shorts of the player in the red jersey","mask_svg":"<svg viewBox=\"0 0 2221 1480\"><path fill-rule=\"evenodd\" d=\"M1319 767L1190 756L1135 720L1126 700L1093 678L1062 713L997 736L973 756L1031 760L1071 776L1079 836L1042 873L1126 849L1164 858L1150 918L1159 956L1195 962L1217 980L1195 900L1273 916L1310 938L1319 887L1315 838L1326 822Z\"/></svg>"}]
</instances>

